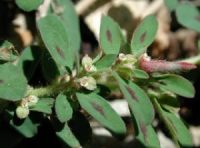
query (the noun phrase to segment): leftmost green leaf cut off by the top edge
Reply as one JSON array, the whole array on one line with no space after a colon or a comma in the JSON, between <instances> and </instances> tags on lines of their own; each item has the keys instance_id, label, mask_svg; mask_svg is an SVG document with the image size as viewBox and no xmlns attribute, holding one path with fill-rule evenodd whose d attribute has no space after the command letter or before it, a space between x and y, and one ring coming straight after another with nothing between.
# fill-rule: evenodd
<instances>
[{"instance_id":1,"label":"leftmost green leaf cut off by the top edge","mask_svg":"<svg viewBox=\"0 0 200 148\"><path fill-rule=\"evenodd\" d=\"M36 10L44 0L16 0L17 6L24 11Z\"/></svg>"}]
</instances>

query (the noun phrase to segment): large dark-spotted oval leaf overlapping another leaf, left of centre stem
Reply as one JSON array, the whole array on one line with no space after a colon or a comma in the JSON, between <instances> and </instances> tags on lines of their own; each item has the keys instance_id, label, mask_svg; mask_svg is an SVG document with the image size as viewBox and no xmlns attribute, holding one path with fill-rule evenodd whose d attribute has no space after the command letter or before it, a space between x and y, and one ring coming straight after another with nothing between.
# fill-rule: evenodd
<instances>
[{"instance_id":1,"label":"large dark-spotted oval leaf overlapping another leaf, left of centre stem","mask_svg":"<svg viewBox=\"0 0 200 148\"><path fill-rule=\"evenodd\" d=\"M75 52L69 46L68 34L60 18L53 14L47 15L38 21L38 28L46 47L58 66L68 66L72 69Z\"/></svg>"}]
</instances>

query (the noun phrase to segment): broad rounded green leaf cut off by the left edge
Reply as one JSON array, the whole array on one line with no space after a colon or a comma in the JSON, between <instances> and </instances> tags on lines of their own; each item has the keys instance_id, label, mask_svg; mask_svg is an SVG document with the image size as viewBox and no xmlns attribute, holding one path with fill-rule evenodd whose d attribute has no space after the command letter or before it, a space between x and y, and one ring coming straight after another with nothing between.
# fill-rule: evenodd
<instances>
[{"instance_id":1,"label":"broad rounded green leaf cut off by the left edge","mask_svg":"<svg viewBox=\"0 0 200 148\"><path fill-rule=\"evenodd\" d=\"M27 81L21 69L6 63L0 65L0 98L18 101L24 97Z\"/></svg>"}]
</instances>

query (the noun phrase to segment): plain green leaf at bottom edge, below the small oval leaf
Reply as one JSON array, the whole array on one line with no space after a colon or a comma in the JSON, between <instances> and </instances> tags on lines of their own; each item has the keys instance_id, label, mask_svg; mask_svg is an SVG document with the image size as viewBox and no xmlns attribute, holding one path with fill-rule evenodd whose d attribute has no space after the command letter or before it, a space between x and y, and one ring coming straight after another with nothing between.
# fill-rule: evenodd
<instances>
[{"instance_id":1,"label":"plain green leaf at bottom edge, below the small oval leaf","mask_svg":"<svg viewBox=\"0 0 200 148\"><path fill-rule=\"evenodd\" d=\"M56 135L70 147L78 148L80 147L79 141L76 139L71 129L67 124L60 131L56 131Z\"/></svg>"}]
</instances>

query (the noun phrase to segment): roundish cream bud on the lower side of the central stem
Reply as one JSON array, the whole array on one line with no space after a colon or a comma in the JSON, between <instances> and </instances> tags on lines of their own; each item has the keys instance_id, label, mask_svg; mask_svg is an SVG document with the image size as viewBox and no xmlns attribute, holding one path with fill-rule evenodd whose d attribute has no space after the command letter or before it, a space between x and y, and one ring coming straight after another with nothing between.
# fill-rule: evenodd
<instances>
[{"instance_id":1,"label":"roundish cream bud on the lower side of the central stem","mask_svg":"<svg viewBox=\"0 0 200 148\"><path fill-rule=\"evenodd\" d=\"M97 88L96 80L93 77L82 77L79 79L79 83L82 87L85 87L88 90L94 90Z\"/></svg>"}]
</instances>

